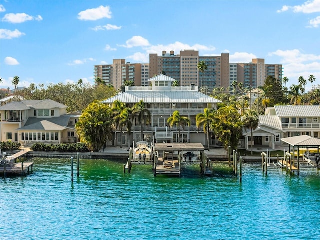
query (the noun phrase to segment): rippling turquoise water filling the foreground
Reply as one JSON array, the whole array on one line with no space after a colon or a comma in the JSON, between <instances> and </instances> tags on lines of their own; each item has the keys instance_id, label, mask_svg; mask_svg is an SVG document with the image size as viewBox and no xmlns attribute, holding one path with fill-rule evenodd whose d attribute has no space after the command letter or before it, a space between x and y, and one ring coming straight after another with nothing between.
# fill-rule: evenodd
<instances>
[{"instance_id":1,"label":"rippling turquoise water filling the foreground","mask_svg":"<svg viewBox=\"0 0 320 240\"><path fill-rule=\"evenodd\" d=\"M320 173L225 164L213 177L188 166L181 178L149 165L33 158L33 173L0 177L1 239L319 239Z\"/></svg>"}]
</instances>

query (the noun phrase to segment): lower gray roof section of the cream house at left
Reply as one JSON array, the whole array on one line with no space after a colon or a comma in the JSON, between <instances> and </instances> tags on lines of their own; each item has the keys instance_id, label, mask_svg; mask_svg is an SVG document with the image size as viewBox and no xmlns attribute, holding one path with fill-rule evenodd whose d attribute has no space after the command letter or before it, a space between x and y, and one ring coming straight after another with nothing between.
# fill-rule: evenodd
<instances>
[{"instance_id":1,"label":"lower gray roof section of the cream house at left","mask_svg":"<svg viewBox=\"0 0 320 240\"><path fill-rule=\"evenodd\" d=\"M23 127L17 130L63 130L68 126L70 116L51 118L29 117Z\"/></svg>"}]
</instances>

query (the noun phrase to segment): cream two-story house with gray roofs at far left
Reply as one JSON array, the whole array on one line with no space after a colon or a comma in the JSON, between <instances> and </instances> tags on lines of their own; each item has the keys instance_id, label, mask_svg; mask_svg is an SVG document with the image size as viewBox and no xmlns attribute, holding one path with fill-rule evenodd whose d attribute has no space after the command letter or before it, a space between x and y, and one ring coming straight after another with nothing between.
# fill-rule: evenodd
<instances>
[{"instance_id":1,"label":"cream two-story house with gray roofs at far left","mask_svg":"<svg viewBox=\"0 0 320 240\"><path fill-rule=\"evenodd\" d=\"M0 107L0 140L33 143L77 142L74 129L80 113L66 114L66 105L53 100L22 100Z\"/></svg>"}]
</instances>

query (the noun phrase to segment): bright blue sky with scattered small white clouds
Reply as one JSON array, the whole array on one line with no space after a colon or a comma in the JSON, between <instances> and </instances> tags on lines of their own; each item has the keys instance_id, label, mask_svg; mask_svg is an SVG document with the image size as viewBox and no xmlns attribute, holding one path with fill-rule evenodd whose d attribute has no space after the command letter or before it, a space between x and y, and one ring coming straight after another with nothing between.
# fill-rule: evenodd
<instances>
[{"instance_id":1,"label":"bright blue sky with scattered small white clouds","mask_svg":"<svg viewBox=\"0 0 320 240\"><path fill-rule=\"evenodd\" d=\"M184 49L264 58L283 64L288 86L310 74L320 84L320 0L0 1L0 88L14 76L19 87L93 84L94 65Z\"/></svg>"}]
</instances>

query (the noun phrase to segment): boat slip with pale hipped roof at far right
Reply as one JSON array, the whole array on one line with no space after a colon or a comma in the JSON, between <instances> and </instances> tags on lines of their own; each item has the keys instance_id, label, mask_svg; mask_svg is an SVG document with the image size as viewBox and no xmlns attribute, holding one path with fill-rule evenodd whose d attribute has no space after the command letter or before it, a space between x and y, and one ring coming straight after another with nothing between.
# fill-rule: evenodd
<instances>
[{"instance_id":1,"label":"boat slip with pale hipped roof at far right","mask_svg":"<svg viewBox=\"0 0 320 240\"><path fill-rule=\"evenodd\" d=\"M288 152L285 153L284 160L278 161L278 164L287 167L290 173L294 170L300 173L300 166L320 167L320 139L308 135L293 136L282 138L281 141L289 145ZM305 149L306 152L305 152ZM309 149L314 149L314 153L310 153ZM302 150L304 152L302 153ZM296 152L295 152L296 151ZM300 154L302 153L302 154ZM302 161L300 160L302 158Z\"/></svg>"}]
</instances>

